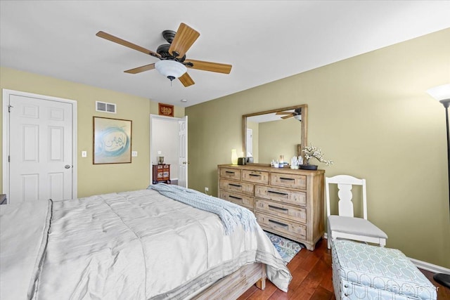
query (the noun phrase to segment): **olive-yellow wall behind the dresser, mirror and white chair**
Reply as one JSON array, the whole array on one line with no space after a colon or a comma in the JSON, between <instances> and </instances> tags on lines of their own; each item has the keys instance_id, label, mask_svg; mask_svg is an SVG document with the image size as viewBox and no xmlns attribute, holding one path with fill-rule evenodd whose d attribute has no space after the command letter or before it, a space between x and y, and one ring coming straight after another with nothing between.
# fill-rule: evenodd
<instances>
[{"instance_id":1,"label":"olive-yellow wall behind the dresser, mirror and white chair","mask_svg":"<svg viewBox=\"0 0 450 300\"><path fill-rule=\"evenodd\" d=\"M425 93L449 81L447 29L187 107L189 186L217 195L217 164L242 148L241 115L306 103L308 141L335 162L320 167L367 179L387 247L450 268L445 113Z\"/></svg>"}]
</instances>

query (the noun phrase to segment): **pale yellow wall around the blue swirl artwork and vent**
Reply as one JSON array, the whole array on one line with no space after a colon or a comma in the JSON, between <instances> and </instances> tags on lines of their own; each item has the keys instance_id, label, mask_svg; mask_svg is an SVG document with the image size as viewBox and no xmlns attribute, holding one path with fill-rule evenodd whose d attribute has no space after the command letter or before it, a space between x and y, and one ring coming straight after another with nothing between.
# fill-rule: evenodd
<instances>
[{"instance_id":1,"label":"pale yellow wall around the blue swirl artwork and vent","mask_svg":"<svg viewBox=\"0 0 450 300\"><path fill-rule=\"evenodd\" d=\"M146 98L117 93L6 67L0 70L1 89L77 100L78 197L146 188L150 182L150 113L158 115L158 103ZM117 104L117 114L96 112L95 101ZM184 116L184 107L175 107L175 117ZM0 110L0 116L3 112ZM131 164L92 164L92 117L111 117L133 121ZM0 119L0 124L1 123ZM1 134L1 133L0 133ZM0 138L1 141L1 138ZM86 150L88 156L81 157ZM0 169L3 169L0 162ZM1 182L0 173L0 182Z\"/></svg>"}]
</instances>

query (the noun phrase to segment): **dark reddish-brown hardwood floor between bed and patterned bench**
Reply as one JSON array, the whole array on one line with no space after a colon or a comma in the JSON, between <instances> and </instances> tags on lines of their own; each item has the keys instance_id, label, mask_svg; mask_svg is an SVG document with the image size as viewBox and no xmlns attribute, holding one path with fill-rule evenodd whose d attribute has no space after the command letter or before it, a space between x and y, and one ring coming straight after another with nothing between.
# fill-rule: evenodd
<instances>
[{"instance_id":1,"label":"dark reddish-brown hardwood floor between bed and patterned bench","mask_svg":"<svg viewBox=\"0 0 450 300\"><path fill-rule=\"evenodd\" d=\"M289 292L281 292L269 280L266 289L261 290L253 286L247 290L240 300L245 299L335 299L333 292L331 250L326 248L326 240L320 240L314 251L302 249L290 263L288 263L293 280L289 285ZM437 287L437 299L450 299L450 289L442 287L432 279L433 273L420 270Z\"/></svg>"}]
</instances>

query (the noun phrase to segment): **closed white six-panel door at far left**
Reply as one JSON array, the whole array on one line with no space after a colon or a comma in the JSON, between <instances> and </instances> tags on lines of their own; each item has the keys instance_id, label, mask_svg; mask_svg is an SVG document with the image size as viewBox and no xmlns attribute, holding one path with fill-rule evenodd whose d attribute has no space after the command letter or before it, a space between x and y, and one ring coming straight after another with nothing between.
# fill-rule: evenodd
<instances>
[{"instance_id":1,"label":"closed white six-panel door at far left","mask_svg":"<svg viewBox=\"0 0 450 300\"><path fill-rule=\"evenodd\" d=\"M42 97L8 95L9 203L76 197L73 103Z\"/></svg>"}]
</instances>

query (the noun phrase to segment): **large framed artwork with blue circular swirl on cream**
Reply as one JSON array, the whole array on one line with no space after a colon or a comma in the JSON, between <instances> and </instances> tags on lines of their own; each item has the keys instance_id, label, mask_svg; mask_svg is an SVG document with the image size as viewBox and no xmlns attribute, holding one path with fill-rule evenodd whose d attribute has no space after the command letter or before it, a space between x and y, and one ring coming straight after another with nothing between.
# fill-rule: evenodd
<instances>
[{"instance_id":1,"label":"large framed artwork with blue circular swirl on cream","mask_svg":"<svg viewBox=\"0 0 450 300\"><path fill-rule=\"evenodd\" d=\"M93 125L93 164L131 163L131 120L94 117Z\"/></svg>"}]
</instances>

